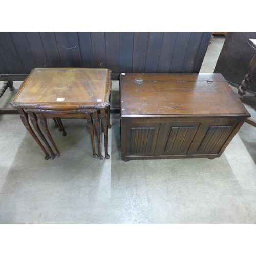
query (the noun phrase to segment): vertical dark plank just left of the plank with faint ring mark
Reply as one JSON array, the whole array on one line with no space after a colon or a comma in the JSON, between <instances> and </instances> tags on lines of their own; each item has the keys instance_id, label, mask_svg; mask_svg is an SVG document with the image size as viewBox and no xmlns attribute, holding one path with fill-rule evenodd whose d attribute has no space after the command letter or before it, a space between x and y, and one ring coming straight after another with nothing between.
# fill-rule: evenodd
<instances>
[{"instance_id":1,"label":"vertical dark plank just left of the plank with faint ring mark","mask_svg":"<svg viewBox=\"0 0 256 256\"><path fill-rule=\"evenodd\" d=\"M44 46L46 57L48 60L48 65L45 65L44 67L46 68L62 67L54 32L39 32L39 34L40 34L42 45Z\"/></svg>"}]
</instances>

